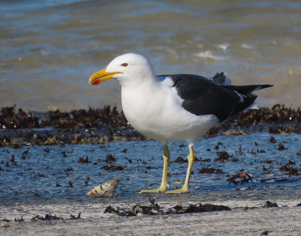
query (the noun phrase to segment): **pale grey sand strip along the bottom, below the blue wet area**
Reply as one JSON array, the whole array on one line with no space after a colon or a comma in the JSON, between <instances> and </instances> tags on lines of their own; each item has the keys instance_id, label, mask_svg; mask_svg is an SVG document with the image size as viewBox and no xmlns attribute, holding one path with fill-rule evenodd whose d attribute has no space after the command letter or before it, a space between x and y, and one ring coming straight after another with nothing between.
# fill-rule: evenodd
<instances>
[{"instance_id":1,"label":"pale grey sand strip along the bottom, below the blue wet area","mask_svg":"<svg viewBox=\"0 0 301 236\"><path fill-rule=\"evenodd\" d=\"M141 202L143 202L141 197ZM173 197L169 197L166 205ZM159 205L160 197L157 199ZM181 197L182 202L187 201ZM191 199L189 199L191 200ZM197 199L198 200L198 199ZM196 200L196 201L197 201ZM115 199L116 201L116 199ZM161 200L162 201L162 200ZM202 199L202 201L204 201ZM99 201L98 201L99 202ZM146 201L145 201L146 202ZM228 201L217 201L218 204L232 205ZM278 200L278 204L284 201ZM287 202L286 202L287 203ZM116 204L116 203L115 203ZM128 201L124 205L127 205ZM234 205L263 205L260 201L236 201ZM30 221L8 222L10 227L0 228L2 235L116 235L121 232L124 235L179 235L179 234L202 234L202 235L261 235L264 231L272 231L272 226L296 226L300 228L300 210L298 207L259 208L245 210L243 208L232 209L231 211L189 213L177 215L157 216L134 216L122 217L103 214L105 204L60 204L36 207L37 212L61 213L66 216L64 220L52 221ZM119 202L118 205L122 205ZM64 211L81 211L81 219L70 220L69 215ZM91 213L90 213L91 212ZM93 213L92 213L93 212ZM41 228L43 231L41 232ZM298 232L299 230L295 230ZM276 231L277 232L277 231Z\"/></svg>"}]
</instances>

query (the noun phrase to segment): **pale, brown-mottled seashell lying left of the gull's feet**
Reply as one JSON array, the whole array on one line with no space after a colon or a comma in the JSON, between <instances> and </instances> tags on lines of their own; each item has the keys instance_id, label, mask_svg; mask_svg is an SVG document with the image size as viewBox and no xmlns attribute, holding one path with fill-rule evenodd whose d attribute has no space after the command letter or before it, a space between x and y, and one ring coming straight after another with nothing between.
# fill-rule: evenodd
<instances>
[{"instance_id":1,"label":"pale, brown-mottled seashell lying left of the gull's feet","mask_svg":"<svg viewBox=\"0 0 301 236\"><path fill-rule=\"evenodd\" d=\"M119 184L120 179L113 179L108 182L102 183L94 188L92 188L86 196L94 198L110 198L113 197L113 194Z\"/></svg>"}]
</instances>

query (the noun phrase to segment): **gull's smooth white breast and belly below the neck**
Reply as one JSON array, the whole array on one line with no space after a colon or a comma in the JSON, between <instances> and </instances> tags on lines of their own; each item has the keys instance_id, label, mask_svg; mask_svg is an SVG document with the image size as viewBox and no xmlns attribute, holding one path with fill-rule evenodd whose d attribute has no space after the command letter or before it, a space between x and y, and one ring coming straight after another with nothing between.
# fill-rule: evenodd
<instances>
[{"instance_id":1,"label":"gull's smooth white breast and belly below the neck","mask_svg":"<svg viewBox=\"0 0 301 236\"><path fill-rule=\"evenodd\" d=\"M215 115L197 116L182 108L182 99L170 88L166 91L122 90L126 119L141 134L151 139L184 139L194 144L198 137L219 124ZM164 92L164 93L163 93Z\"/></svg>"}]
</instances>

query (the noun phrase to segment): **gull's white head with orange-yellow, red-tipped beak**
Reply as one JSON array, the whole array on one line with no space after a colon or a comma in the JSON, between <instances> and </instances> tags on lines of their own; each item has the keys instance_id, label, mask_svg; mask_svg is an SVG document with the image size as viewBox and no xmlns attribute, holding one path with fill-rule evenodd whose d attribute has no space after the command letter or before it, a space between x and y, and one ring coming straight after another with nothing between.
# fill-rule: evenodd
<instances>
[{"instance_id":1,"label":"gull's white head with orange-yellow, red-tipped beak","mask_svg":"<svg viewBox=\"0 0 301 236\"><path fill-rule=\"evenodd\" d=\"M115 78L123 86L155 78L155 74L145 57L129 53L116 57L106 68L91 75L89 84L97 85L111 78Z\"/></svg>"}]
</instances>

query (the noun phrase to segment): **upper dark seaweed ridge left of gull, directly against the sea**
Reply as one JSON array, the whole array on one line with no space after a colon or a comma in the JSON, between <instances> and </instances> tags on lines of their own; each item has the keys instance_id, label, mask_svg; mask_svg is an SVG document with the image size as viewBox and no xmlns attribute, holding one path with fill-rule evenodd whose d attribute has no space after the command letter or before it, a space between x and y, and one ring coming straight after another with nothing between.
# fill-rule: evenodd
<instances>
[{"instance_id":1,"label":"upper dark seaweed ridge left of gull, directly against the sea","mask_svg":"<svg viewBox=\"0 0 301 236\"><path fill-rule=\"evenodd\" d=\"M15 112L15 107L2 108L0 112L0 128L1 129L21 129L21 128L102 128L104 125L111 127L128 126L127 120L123 112L117 111L116 106L111 109L110 106L105 106L104 109L92 109L89 107L86 110L73 110L71 112L24 112L18 109Z\"/></svg>"}]
</instances>

